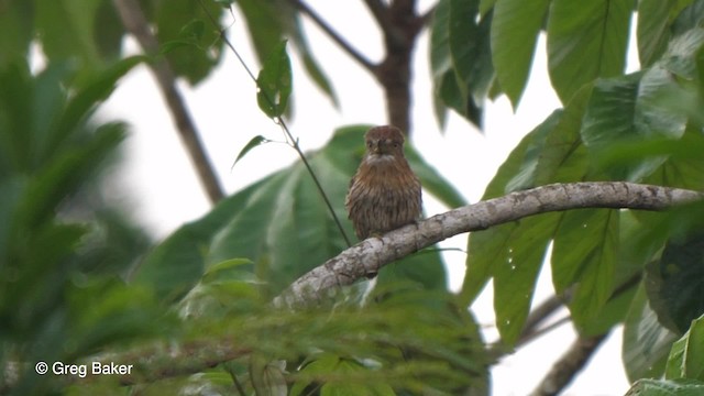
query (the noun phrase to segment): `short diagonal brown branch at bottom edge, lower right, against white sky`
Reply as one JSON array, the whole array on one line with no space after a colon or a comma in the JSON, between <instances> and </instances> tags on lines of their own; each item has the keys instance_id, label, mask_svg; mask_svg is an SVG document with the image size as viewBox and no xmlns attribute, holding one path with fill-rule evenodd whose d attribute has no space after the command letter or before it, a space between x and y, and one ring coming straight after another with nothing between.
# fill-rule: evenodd
<instances>
[{"instance_id":1,"label":"short diagonal brown branch at bottom edge, lower right, against white sky","mask_svg":"<svg viewBox=\"0 0 704 396\"><path fill-rule=\"evenodd\" d=\"M590 361L596 349L606 340L606 334L578 338L568 352L565 352L559 361L552 365L552 370L540 382L540 385L534 391L534 396L552 396L558 395L565 386L572 382L572 378L579 373Z\"/></svg>"}]
</instances>

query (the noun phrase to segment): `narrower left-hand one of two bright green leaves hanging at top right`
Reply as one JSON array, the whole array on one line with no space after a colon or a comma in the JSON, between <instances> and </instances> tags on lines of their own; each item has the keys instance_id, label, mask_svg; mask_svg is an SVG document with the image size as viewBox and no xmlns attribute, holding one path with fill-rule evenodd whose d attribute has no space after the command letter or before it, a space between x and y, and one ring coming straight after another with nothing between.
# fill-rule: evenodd
<instances>
[{"instance_id":1,"label":"narrower left-hand one of two bright green leaves hanging at top right","mask_svg":"<svg viewBox=\"0 0 704 396\"><path fill-rule=\"evenodd\" d=\"M528 82L538 33L549 0L498 0L492 21L492 61L502 89L514 109Z\"/></svg>"}]
</instances>

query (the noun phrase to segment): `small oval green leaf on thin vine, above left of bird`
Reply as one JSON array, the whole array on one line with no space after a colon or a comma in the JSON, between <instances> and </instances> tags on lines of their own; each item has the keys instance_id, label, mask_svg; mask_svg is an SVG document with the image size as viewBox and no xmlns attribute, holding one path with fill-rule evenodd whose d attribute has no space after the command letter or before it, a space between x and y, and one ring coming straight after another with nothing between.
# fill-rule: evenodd
<instances>
[{"instance_id":1,"label":"small oval green leaf on thin vine, above left of bird","mask_svg":"<svg viewBox=\"0 0 704 396\"><path fill-rule=\"evenodd\" d=\"M256 77L256 101L268 117L280 117L286 111L293 89L290 59L286 53L286 41L280 42L264 62Z\"/></svg>"}]
</instances>

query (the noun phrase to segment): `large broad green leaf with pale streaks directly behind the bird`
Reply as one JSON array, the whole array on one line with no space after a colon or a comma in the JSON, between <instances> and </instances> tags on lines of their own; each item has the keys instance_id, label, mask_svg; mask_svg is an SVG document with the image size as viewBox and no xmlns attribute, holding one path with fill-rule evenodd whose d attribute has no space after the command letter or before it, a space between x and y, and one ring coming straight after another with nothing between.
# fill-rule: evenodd
<instances>
[{"instance_id":1,"label":"large broad green leaf with pale streaks directly behind the bird","mask_svg":"<svg viewBox=\"0 0 704 396\"><path fill-rule=\"evenodd\" d=\"M349 180L364 152L367 127L343 128L332 141L309 154L310 166L353 235L343 207ZM427 193L449 206L463 202L443 178L422 162L411 146L407 157ZM252 271L275 295L290 282L346 248L305 166L298 162L222 200L202 219L177 230L155 249L136 278L156 285L164 298L187 292L209 265L245 257ZM438 252L422 252L385 268L389 282L415 280L444 288Z\"/></svg>"}]
</instances>

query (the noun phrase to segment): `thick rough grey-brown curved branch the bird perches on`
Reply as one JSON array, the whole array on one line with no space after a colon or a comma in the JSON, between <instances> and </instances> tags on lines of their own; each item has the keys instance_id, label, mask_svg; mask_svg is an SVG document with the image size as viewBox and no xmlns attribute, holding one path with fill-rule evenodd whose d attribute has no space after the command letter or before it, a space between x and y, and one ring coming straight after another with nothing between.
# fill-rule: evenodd
<instances>
[{"instance_id":1,"label":"thick rough grey-brown curved branch the bird perches on","mask_svg":"<svg viewBox=\"0 0 704 396\"><path fill-rule=\"evenodd\" d=\"M625 182L553 184L433 216L370 238L294 282L275 305L321 299L336 287L376 274L384 265L452 235L485 230L528 216L579 208L662 210L704 198L702 193Z\"/></svg>"}]
</instances>

